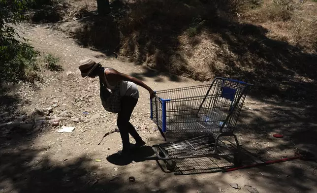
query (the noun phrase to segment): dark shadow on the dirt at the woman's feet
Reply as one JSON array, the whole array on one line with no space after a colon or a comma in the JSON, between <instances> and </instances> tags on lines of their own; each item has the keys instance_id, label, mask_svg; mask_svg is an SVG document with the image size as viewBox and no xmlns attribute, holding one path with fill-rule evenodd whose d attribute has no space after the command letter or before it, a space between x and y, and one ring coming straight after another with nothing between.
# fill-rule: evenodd
<instances>
[{"instance_id":1,"label":"dark shadow on the dirt at the woman's feet","mask_svg":"<svg viewBox=\"0 0 317 193\"><path fill-rule=\"evenodd\" d=\"M156 160L156 157L152 157L154 154L152 147L143 146L131 150L130 154L127 156L121 156L118 153L112 154L107 158L107 161L115 165L128 165L132 161L140 162L146 160Z\"/></svg>"}]
</instances>

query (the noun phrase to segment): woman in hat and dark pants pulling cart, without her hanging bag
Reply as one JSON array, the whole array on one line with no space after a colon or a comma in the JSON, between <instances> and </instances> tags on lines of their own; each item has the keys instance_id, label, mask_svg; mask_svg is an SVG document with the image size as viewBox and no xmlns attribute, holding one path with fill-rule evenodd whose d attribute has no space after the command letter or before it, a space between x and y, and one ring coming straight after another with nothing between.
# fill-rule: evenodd
<instances>
[{"instance_id":1,"label":"woman in hat and dark pants pulling cart, without her hanging bag","mask_svg":"<svg viewBox=\"0 0 317 193\"><path fill-rule=\"evenodd\" d=\"M135 84L148 90L150 98L155 96L154 91L139 79L120 73L113 68L104 68L100 63L95 63L95 61L90 58L80 61L79 69L84 79L98 76L100 85L102 83L102 85L110 90L113 90L118 82L120 82L121 110L118 113L117 126L120 131L123 148L119 154L127 155L130 150L129 133L136 141L134 147L145 145L145 142L129 122L132 111L139 98L139 91Z\"/></svg>"}]
</instances>

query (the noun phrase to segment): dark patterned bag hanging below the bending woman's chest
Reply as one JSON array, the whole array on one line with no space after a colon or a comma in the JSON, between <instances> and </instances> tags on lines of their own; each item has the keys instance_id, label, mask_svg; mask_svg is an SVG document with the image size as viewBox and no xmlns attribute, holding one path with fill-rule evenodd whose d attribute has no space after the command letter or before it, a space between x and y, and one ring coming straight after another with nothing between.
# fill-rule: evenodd
<instances>
[{"instance_id":1,"label":"dark patterned bag hanging below the bending woman's chest","mask_svg":"<svg viewBox=\"0 0 317 193\"><path fill-rule=\"evenodd\" d=\"M99 78L100 83L100 99L103 108L111 113L119 113L121 111L121 95L120 95L120 87L121 82L119 81L115 88L108 91L107 87L103 85L101 79Z\"/></svg>"}]
</instances>

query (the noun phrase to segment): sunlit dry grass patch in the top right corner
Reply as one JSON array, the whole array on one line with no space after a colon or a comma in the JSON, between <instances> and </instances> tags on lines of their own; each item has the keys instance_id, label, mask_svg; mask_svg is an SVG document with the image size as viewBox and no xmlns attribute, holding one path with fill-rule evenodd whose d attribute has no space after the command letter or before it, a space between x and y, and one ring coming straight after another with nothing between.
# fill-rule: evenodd
<instances>
[{"instance_id":1,"label":"sunlit dry grass patch in the top right corner","mask_svg":"<svg viewBox=\"0 0 317 193\"><path fill-rule=\"evenodd\" d=\"M311 2L295 0L246 0L241 6L244 20L261 23L275 39L317 49L317 9Z\"/></svg>"}]
</instances>

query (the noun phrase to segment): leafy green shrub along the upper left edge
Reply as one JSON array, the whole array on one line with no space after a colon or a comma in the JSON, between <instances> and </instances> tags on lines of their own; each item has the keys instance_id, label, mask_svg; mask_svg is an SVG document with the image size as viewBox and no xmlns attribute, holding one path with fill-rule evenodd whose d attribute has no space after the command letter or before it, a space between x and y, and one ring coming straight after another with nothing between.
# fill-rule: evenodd
<instances>
[{"instance_id":1,"label":"leafy green shrub along the upper left edge","mask_svg":"<svg viewBox=\"0 0 317 193\"><path fill-rule=\"evenodd\" d=\"M0 82L26 80L33 82L37 77L38 53L32 46L16 39L19 35L9 24L23 19L32 0L0 0Z\"/></svg>"}]
</instances>

